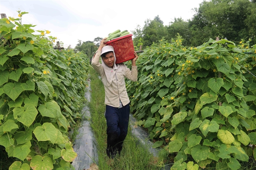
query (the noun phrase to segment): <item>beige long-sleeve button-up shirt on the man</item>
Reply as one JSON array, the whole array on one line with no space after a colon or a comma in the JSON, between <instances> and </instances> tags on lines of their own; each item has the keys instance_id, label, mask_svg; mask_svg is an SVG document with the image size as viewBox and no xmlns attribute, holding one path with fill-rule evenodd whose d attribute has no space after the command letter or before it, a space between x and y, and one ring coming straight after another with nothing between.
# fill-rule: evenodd
<instances>
[{"instance_id":1,"label":"beige long-sleeve button-up shirt on the man","mask_svg":"<svg viewBox=\"0 0 256 170\"><path fill-rule=\"evenodd\" d=\"M94 55L92 58L92 67L102 78L102 82L105 88L105 104L112 107L119 107L120 101L122 105L130 103L127 95L124 78L130 79L131 81L137 81L138 71L136 66L132 66L132 70L128 69L124 63L120 63L116 70L112 70L115 75L112 79L112 83L107 85L107 77L104 72L102 64L99 62L101 51Z\"/></svg>"}]
</instances>

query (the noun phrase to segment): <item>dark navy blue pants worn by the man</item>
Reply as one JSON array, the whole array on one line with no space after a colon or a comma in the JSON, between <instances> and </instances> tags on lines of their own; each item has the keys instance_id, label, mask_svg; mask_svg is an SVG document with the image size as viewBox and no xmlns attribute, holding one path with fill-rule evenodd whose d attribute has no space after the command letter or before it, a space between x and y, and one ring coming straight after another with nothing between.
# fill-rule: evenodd
<instances>
[{"instance_id":1,"label":"dark navy blue pants worn by the man","mask_svg":"<svg viewBox=\"0 0 256 170\"><path fill-rule=\"evenodd\" d=\"M123 142L127 135L129 125L130 105L122 108L106 105L107 121L107 155L113 158L117 153L120 154Z\"/></svg>"}]
</instances>

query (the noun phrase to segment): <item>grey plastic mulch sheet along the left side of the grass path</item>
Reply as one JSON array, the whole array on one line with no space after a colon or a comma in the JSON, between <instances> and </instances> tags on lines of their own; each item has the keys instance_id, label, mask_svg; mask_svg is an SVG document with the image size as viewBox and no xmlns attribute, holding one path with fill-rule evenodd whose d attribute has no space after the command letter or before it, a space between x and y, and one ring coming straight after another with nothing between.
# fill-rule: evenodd
<instances>
[{"instance_id":1,"label":"grey plastic mulch sheet along the left side of the grass path","mask_svg":"<svg viewBox=\"0 0 256 170\"><path fill-rule=\"evenodd\" d=\"M85 98L90 102L90 81L88 81L89 87L85 93ZM94 138L94 132L90 127L90 110L88 106L83 108L82 113L83 121L82 126L78 129L78 135L76 136L75 144L73 146L74 151L77 153L77 157L72 162L72 165L76 170L87 170L92 163L98 164L98 151L97 143Z\"/></svg>"}]
</instances>

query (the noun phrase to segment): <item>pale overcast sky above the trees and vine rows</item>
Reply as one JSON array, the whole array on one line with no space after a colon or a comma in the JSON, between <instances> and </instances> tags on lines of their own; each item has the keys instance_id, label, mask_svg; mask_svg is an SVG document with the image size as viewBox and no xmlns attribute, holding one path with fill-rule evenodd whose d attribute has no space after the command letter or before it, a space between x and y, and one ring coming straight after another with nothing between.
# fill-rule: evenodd
<instances>
[{"instance_id":1,"label":"pale overcast sky above the trees and vine rows","mask_svg":"<svg viewBox=\"0 0 256 170\"><path fill-rule=\"evenodd\" d=\"M164 25L174 18L193 17L193 8L203 0L0 0L0 13L18 17L18 10L29 12L22 24L34 30L49 30L64 47L75 47L78 40L93 41L120 29L135 30L146 19L159 15Z\"/></svg>"}]
</instances>

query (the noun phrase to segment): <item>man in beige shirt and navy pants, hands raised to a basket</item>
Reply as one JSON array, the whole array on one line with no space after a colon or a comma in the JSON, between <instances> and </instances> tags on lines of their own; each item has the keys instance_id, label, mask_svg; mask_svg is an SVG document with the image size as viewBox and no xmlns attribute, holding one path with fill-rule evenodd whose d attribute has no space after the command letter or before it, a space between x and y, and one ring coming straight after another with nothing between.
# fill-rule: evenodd
<instances>
[{"instance_id":1,"label":"man in beige shirt and navy pants, hands raised to a basket","mask_svg":"<svg viewBox=\"0 0 256 170\"><path fill-rule=\"evenodd\" d=\"M106 38L100 42L100 46L92 58L92 66L101 76L105 88L106 123L107 123L107 155L110 161L120 154L124 139L127 135L130 114L130 100L127 95L124 78L137 81L136 59L132 61L132 70L124 63L116 64L114 48L106 45ZM102 57L102 64L99 62Z\"/></svg>"}]
</instances>

